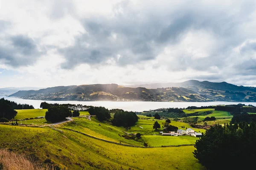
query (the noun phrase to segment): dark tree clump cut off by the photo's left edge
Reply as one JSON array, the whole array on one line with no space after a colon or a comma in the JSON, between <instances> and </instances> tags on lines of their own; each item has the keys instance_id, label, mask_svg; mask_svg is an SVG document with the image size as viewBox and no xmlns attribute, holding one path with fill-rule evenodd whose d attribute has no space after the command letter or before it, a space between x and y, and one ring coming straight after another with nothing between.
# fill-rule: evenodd
<instances>
[{"instance_id":1,"label":"dark tree clump cut off by the photo's left edge","mask_svg":"<svg viewBox=\"0 0 256 170\"><path fill-rule=\"evenodd\" d=\"M13 102L5 100L4 98L0 99L0 118L5 118L8 120L14 119L17 115L17 111L14 110Z\"/></svg>"}]
</instances>

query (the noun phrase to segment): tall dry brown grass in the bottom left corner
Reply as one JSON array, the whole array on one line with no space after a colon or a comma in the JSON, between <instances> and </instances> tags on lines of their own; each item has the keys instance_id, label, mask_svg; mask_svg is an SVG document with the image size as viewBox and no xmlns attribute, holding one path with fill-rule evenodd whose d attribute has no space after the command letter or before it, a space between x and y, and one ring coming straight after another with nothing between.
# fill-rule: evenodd
<instances>
[{"instance_id":1,"label":"tall dry brown grass in the bottom left corner","mask_svg":"<svg viewBox=\"0 0 256 170\"><path fill-rule=\"evenodd\" d=\"M0 149L0 170L53 170L53 168L42 167L24 155Z\"/></svg>"}]
</instances>

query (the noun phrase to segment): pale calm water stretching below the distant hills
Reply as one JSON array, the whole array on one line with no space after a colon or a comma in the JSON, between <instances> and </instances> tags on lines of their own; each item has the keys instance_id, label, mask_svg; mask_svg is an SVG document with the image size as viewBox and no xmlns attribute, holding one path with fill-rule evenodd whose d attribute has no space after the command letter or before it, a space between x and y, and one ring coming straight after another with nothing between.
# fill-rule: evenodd
<instances>
[{"instance_id":1,"label":"pale calm water stretching below the distant hills","mask_svg":"<svg viewBox=\"0 0 256 170\"><path fill-rule=\"evenodd\" d=\"M59 103L59 104L81 104L92 106L103 106L108 109L119 108L125 111L148 111L158 108L186 108L188 106L210 106L210 105L232 105L242 103L245 105L254 105L256 102L80 102L80 101L45 101L45 100L27 100L12 97L4 97L5 99L20 103L33 105L35 108L40 108L41 102ZM0 96L0 98L2 98Z\"/></svg>"}]
</instances>

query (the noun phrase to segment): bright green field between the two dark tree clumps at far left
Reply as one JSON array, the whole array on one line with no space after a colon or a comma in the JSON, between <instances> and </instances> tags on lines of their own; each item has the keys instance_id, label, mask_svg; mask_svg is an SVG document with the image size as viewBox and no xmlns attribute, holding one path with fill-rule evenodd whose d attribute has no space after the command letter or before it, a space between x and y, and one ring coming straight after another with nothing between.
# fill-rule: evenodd
<instances>
[{"instance_id":1,"label":"bright green field between the two dark tree clumps at far left","mask_svg":"<svg viewBox=\"0 0 256 170\"><path fill-rule=\"evenodd\" d=\"M38 116L45 116L45 112L48 109L25 109L25 110L16 110L18 113L14 119L26 119L26 118L35 118Z\"/></svg>"}]
</instances>

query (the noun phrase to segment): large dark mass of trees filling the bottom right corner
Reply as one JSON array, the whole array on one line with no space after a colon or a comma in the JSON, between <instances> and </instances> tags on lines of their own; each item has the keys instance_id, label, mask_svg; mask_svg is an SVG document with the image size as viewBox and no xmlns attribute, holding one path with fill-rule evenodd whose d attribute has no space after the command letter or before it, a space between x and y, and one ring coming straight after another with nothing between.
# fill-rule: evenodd
<instances>
[{"instance_id":1,"label":"large dark mass of trees filling the bottom right corner","mask_svg":"<svg viewBox=\"0 0 256 170\"><path fill-rule=\"evenodd\" d=\"M195 143L193 152L196 159L207 169L251 169L256 159L256 123L244 122L234 125L215 125Z\"/></svg>"}]
</instances>

